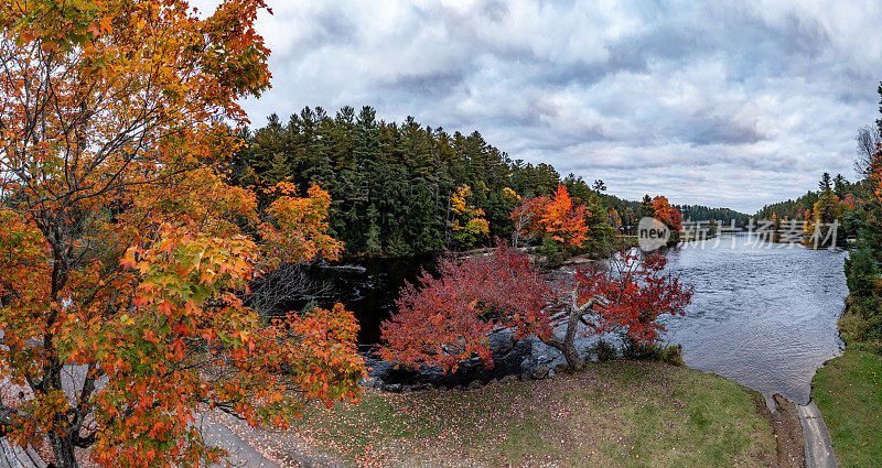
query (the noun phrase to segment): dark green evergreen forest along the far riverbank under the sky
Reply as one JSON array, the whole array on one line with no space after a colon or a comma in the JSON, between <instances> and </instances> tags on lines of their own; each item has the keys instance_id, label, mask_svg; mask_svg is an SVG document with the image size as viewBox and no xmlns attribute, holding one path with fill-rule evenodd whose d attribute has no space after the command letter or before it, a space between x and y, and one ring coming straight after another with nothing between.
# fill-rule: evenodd
<instances>
[{"instance_id":1,"label":"dark green evergreen forest along the far riverbank under the sky","mask_svg":"<svg viewBox=\"0 0 882 468\"><path fill-rule=\"evenodd\" d=\"M615 232L631 233L642 216L655 213L648 195L625 200L606 194L603 181L561 177L549 164L512 159L477 131L449 132L412 117L386 122L368 106L333 116L306 107L287 122L272 115L265 127L241 130L240 138L245 144L229 163L232 183L271 187L289 181L299 193L318 184L331 194L331 233L344 242L347 257L493 246L512 236L518 199L550 195L558 184L585 207L590 232L583 252L602 251ZM727 208L674 208L691 220L747 219Z\"/></svg>"}]
</instances>

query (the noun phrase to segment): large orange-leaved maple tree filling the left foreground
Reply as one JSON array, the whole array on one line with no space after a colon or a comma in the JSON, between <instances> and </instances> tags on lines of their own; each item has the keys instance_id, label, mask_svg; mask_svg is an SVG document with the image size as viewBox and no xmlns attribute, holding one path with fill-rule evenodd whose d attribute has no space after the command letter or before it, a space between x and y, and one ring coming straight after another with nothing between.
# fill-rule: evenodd
<instances>
[{"instance_id":1,"label":"large orange-leaved maple tree filling the left foreground","mask_svg":"<svg viewBox=\"0 0 882 468\"><path fill-rule=\"evenodd\" d=\"M207 466L194 416L283 426L308 399L354 399L358 330L342 305L267 323L249 282L324 255L326 192L280 182L259 209L227 184L269 86L262 0L201 17L181 0L0 6L0 401L17 444L58 467ZM287 373L279 372L287 370ZM73 376L71 378L69 376Z\"/></svg>"}]
</instances>

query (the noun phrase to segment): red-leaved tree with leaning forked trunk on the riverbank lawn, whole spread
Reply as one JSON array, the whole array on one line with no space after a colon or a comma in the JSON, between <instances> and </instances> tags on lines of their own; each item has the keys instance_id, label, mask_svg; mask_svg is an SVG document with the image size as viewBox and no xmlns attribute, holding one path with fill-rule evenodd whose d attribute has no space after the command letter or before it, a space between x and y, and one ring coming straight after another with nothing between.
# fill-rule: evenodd
<instances>
[{"instance_id":1,"label":"red-leaved tree with leaning forked trunk on the riverbank lawn, whole spread","mask_svg":"<svg viewBox=\"0 0 882 468\"><path fill-rule=\"evenodd\" d=\"M572 279L548 279L530 258L505 244L493 254L456 262L439 275L423 272L406 284L398 312L381 327L380 356L455 371L473 356L493 364L490 334L534 336L558 349L570 368L583 366L577 334L626 334L649 342L664 330L658 317L682 314L692 287L665 272L662 254L620 251L609 268L580 269Z\"/></svg>"}]
</instances>

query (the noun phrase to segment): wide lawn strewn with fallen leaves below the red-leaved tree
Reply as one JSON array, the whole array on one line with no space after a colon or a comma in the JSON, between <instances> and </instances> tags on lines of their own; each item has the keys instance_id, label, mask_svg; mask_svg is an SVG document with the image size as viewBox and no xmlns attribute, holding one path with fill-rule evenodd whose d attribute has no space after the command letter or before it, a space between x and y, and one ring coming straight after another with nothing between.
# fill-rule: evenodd
<instances>
[{"instance_id":1,"label":"wide lawn strewn with fallen leaves below the red-leaved tree","mask_svg":"<svg viewBox=\"0 0 882 468\"><path fill-rule=\"evenodd\" d=\"M718 376L610 361L476 391L369 392L292 431L358 466L767 467L763 404Z\"/></svg>"}]
</instances>

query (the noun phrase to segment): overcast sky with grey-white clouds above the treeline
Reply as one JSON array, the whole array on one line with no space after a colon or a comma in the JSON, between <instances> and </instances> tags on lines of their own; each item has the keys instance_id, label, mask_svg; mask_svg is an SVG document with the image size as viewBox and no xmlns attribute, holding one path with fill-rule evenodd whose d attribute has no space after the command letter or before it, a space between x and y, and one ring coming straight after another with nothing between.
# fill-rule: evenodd
<instances>
[{"instance_id":1,"label":"overcast sky with grey-white clouds above the treeline","mask_svg":"<svg viewBox=\"0 0 882 468\"><path fill-rule=\"evenodd\" d=\"M213 0L196 1L203 11ZM630 199L755 213L856 178L880 1L268 1L252 126L369 105Z\"/></svg>"}]
</instances>

